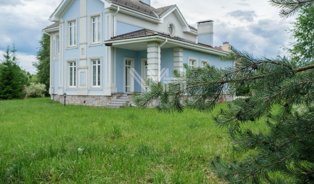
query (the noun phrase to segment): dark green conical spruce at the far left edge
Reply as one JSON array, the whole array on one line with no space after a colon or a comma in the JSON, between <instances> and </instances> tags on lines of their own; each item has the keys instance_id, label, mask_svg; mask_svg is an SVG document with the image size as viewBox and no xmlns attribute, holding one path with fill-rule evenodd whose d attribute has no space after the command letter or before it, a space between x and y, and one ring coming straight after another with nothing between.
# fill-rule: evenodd
<instances>
[{"instance_id":1,"label":"dark green conical spruce at the far left edge","mask_svg":"<svg viewBox=\"0 0 314 184\"><path fill-rule=\"evenodd\" d=\"M18 99L22 96L24 77L18 66L18 59L15 55L16 49L10 50L7 47L3 54L4 59L0 65L0 99ZM25 75L26 76L26 75Z\"/></svg>"}]
</instances>

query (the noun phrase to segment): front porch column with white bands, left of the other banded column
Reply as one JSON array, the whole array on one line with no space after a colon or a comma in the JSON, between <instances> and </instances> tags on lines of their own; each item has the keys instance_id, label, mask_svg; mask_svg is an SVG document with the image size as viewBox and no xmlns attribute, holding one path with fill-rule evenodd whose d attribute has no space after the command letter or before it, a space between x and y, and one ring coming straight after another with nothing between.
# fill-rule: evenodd
<instances>
[{"instance_id":1,"label":"front porch column with white bands, left of the other banded column","mask_svg":"<svg viewBox=\"0 0 314 184\"><path fill-rule=\"evenodd\" d=\"M158 81L158 47L159 42L147 43L147 77Z\"/></svg>"}]
</instances>

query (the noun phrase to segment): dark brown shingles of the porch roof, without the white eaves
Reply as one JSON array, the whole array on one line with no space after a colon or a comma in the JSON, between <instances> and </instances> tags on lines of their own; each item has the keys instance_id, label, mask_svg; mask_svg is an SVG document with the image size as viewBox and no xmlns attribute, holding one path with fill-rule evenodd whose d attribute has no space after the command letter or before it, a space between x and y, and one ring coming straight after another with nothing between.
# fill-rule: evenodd
<instances>
[{"instance_id":1,"label":"dark brown shingles of the porch roof, without the white eaves","mask_svg":"<svg viewBox=\"0 0 314 184\"><path fill-rule=\"evenodd\" d=\"M113 38L111 38L110 40L107 40L107 41L124 40L124 39L131 39L131 38L141 38L141 37L156 36L156 35L162 36L162 37L165 37L165 38L171 38L171 39L179 40L179 41L182 41L182 42L192 43L192 44L195 44L195 45L200 45L200 46L204 46L204 47L208 47L208 48L212 48L212 49L216 49L216 50L221 50L221 49L218 49L218 48L213 48L212 46L209 46L209 45L205 45L205 44L202 44L202 43L195 43L195 42L192 42L192 41L189 41L189 40L177 37L177 36L176 37L172 37L169 34L159 33L159 32L148 30L148 29L142 29L142 30L139 30L139 31L134 31L134 32L131 32L131 33L118 35L118 36L113 37ZM111 43L107 43L106 46L111 46Z\"/></svg>"}]
</instances>

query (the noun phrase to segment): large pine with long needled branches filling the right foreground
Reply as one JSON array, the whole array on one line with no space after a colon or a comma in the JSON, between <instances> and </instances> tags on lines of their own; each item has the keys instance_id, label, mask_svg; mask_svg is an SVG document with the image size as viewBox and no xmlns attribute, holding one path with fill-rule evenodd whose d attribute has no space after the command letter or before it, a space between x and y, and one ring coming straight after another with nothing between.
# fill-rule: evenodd
<instances>
[{"instance_id":1,"label":"large pine with long needled branches filling the right foreground","mask_svg":"<svg viewBox=\"0 0 314 184\"><path fill-rule=\"evenodd\" d=\"M314 5L314 0L271 0L288 17L299 8ZM219 178L231 183L288 183L276 177L286 175L295 183L314 182L314 62L296 67L285 57L257 58L230 47L222 61L237 61L225 69L207 65L185 72L173 71L169 84L147 81L148 90L133 93L132 101L146 107L158 98L159 111L182 112L185 108L202 112L214 110L224 93L233 95L249 85L252 96L237 99L221 109L213 119L219 127L228 127L232 150L251 154L241 161L224 161L214 156L209 165ZM183 99L188 95L191 99ZM294 105L305 105L299 113ZM273 107L280 113L274 114ZM263 119L267 132L243 129L244 124ZM273 174L273 173L277 173Z\"/></svg>"}]
</instances>

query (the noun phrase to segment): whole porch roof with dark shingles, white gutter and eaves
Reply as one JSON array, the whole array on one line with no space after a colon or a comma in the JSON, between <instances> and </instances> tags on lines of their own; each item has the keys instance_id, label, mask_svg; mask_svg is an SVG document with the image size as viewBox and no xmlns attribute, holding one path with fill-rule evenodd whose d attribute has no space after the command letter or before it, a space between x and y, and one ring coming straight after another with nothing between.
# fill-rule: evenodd
<instances>
[{"instance_id":1,"label":"whole porch roof with dark shingles, white gutter and eaves","mask_svg":"<svg viewBox=\"0 0 314 184\"><path fill-rule=\"evenodd\" d=\"M163 48L170 48L170 47L178 47L178 43L182 43L183 45L190 45L192 46L192 49L194 50L200 50L200 49L205 49L205 50L210 50L211 52L214 52L212 54L226 54L225 51L218 49L217 47L214 48L210 45L205 45L205 44L201 44L201 43L195 43L180 37L173 37L167 33L160 33L160 32L156 32L156 31L152 31L149 29L142 29L139 31L134 31L131 33L126 33L126 34L122 34L122 35L118 35L116 37L113 37L107 41L105 41L105 45L106 46L114 46L114 47L118 47L119 45L121 46L120 48L126 48L124 46L130 45L130 47L132 47L133 49L131 50L137 50L135 44L138 44L138 46L140 46L141 49L145 48L145 46L143 45L143 43L147 43L147 42L151 42L151 41L160 41L163 42L167 40L167 44L165 44L163 46ZM139 43L142 43L142 45L140 45ZM203 51L202 50L202 51Z\"/></svg>"}]
</instances>

